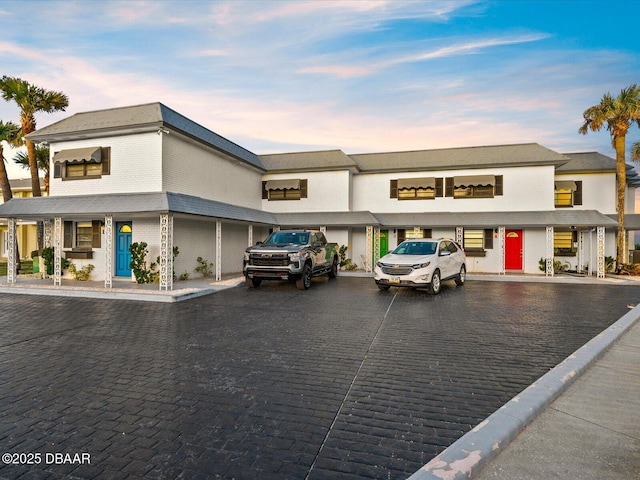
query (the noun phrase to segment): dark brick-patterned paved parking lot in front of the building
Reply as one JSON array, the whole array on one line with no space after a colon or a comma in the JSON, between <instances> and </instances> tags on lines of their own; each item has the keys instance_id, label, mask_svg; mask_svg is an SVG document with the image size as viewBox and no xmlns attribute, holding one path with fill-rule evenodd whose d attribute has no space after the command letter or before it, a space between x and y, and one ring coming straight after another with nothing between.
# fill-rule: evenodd
<instances>
[{"instance_id":1,"label":"dark brick-patterned paved parking lot in front of the building","mask_svg":"<svg viewBox=\"0 0 640 480\"><path fill-rule=\"evenodd\" d=\"M406 478L639 302L363 278L175 304L0 295L0 453L31 460L0 477Z\"/></svg>"}]
</instances>

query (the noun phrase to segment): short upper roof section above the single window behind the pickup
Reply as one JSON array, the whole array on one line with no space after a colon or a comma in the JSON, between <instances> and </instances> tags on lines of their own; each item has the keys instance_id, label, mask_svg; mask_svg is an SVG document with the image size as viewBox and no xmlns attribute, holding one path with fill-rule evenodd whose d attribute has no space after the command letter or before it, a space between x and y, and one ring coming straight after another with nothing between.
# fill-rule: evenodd
<instances>
[{"instance_id":1,"label":"short upper roof section above the single window behind the pickup","mask_svg":"<svg viewBox=\"0 0 640 480\"><path fill-rule=\"evenodd\" d=\"M260 160L268 172L356 168L356 162L342 150L276 153L260 155Z\"/></svg>"}]
</instances>

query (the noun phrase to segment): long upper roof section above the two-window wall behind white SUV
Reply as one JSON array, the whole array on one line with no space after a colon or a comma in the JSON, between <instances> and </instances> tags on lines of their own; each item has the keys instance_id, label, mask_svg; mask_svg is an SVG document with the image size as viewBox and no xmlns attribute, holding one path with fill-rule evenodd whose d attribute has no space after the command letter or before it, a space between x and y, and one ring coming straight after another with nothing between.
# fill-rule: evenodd
<instances>
[{"instance_id":1,"label":"long upper roof section above the two-window wall behind white SUV","mask_svg":"<svg viewBox=\"0 0 640 480\"><path fill-rule=\"evenodd\" d=\"M349 155L362 172L562 165L564 155L537 143Z\"/></svg>"}]
</instances>

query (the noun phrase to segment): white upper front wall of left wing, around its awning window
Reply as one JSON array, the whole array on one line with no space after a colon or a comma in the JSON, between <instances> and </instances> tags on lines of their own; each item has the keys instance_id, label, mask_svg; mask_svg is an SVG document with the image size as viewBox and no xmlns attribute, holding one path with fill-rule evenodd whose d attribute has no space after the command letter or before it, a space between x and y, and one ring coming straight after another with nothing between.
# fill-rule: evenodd
<instances>
[{"instance_id":1,"label":"white upper front wall of left wing, around its awning window","mask_svg":"<svg viewBox=\"0 0 640 480\"><path fill-rule=\"evenodd\" d=\"M86 180L53 178L52 161L51 196L162 191L161 137L156 133L58 142L50 146L51 158L61 150L85 147L111 147L111 173Z\"/></svg>"}]
</instances>

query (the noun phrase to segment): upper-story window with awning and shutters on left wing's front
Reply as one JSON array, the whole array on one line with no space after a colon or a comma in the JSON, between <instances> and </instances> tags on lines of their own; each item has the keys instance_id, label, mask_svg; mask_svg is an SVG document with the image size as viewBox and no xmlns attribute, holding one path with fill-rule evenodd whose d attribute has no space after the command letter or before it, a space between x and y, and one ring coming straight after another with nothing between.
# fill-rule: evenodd
<instances>
[{"instance_id":1,"label":"upper-story window with awning and shutters on left wing's front","mask_svg":"<svg viewBox=\"0 0 640 480\"><path fill-rule=\"evenodd\" d=\"M110 155L110 147L61 150L53 155L53 177L62 180L83 180L109 175Z\"/></svg>"}]
</instances>

